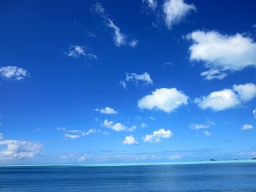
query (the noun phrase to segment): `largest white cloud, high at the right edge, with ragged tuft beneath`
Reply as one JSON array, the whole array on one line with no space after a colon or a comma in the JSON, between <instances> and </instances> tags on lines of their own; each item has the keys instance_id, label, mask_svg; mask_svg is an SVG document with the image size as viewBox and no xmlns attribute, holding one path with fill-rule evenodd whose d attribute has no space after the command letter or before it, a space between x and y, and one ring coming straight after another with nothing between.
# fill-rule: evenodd
<instances>
[{"instance_id":1,"label":"largest white cloud, high at the right edge, with ragged tuft beneath","mask_svg":"<svg viewBox=\"0 0 256 192\"><path fill-rule=\"evenodd\" d=\"M252 38L222 35L217 31L194 31L187 35L193 44L189 47L190 60L203 61L210 70L201 75L205 79L223 79L227 72L256 67L256 43Z\"/></svg>"}]
</instances>

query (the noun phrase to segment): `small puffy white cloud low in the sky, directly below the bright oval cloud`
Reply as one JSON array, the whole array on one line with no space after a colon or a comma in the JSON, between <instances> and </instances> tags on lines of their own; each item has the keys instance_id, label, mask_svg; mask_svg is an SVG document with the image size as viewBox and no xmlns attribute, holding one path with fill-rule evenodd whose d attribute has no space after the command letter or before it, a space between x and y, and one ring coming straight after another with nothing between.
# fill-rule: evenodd
<instances>
[{"instance_id":1,"label":"small puffy white cloud low in the sky, directly below the bright oval cloud","mask_svg":"<svg viewBox=\"0 0 256 192\"><path fill-rule=\"evenodd\" d=\"M153 134L147 134L144 138L144 142L157 143L161 141L162 138L170 138L172 136L170 130L165 131L164 129L159 129L159 131L154 131Z\"/></svg>"}]
</instances>

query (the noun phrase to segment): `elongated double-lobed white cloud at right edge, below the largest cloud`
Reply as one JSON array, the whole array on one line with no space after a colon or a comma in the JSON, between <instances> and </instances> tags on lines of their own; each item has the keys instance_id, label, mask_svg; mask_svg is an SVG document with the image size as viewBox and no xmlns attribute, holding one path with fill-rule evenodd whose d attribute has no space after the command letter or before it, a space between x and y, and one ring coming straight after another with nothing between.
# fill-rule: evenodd
<instances>
[{"instance_id":1,"label":"elongated double-lobed white cloud at right edge, below the largest cloud","mask_svg":"<svg viewBox=\"0 0 256 192\"><path fill-rule=\"evenodd\" d=\"M213 111L222 111L235 108L249 102L256 97L256 86L253 83L234 84L233 89L224 89L212 92L206 97L196 98L195 102L201 109L210 108Z\"/></svg>"}]
</instances>

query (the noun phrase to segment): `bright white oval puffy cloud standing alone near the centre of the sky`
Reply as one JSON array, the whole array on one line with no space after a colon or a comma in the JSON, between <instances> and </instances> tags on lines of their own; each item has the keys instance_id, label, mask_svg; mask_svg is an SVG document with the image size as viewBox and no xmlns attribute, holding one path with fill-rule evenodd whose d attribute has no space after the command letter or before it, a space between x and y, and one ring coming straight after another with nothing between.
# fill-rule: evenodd
<instances>
[{"instance_id":1,"label":"bright white oval puffy cloud standing alone near the centre of the sky","mask_svg":"<svg viewBox=\"0 0 256 192\"><path fill-rule=\"evenodd\" d=\"M189 97L176 88L160 88L138 100L140 109L156 109L170 113L188 104Z\"/></svg>"}]
</instances>

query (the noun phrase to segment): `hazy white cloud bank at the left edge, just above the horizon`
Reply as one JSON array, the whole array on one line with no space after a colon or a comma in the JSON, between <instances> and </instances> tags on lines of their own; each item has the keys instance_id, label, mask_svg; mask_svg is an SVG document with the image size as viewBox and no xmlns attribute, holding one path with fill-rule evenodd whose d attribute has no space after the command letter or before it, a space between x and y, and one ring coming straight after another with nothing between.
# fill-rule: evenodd
<instances>
[{"instance_id":1,"label":"hazy white cloud bank at the left edge, just above the horizon","mask_svg":"<svg viewBox=\"0 0 256 192\"><path fill-rule=\"evenodd\" d=\"M35 141L0 140L0 161L31 159L42 155L42 143Z\"/></svg>"}]
</instances>

